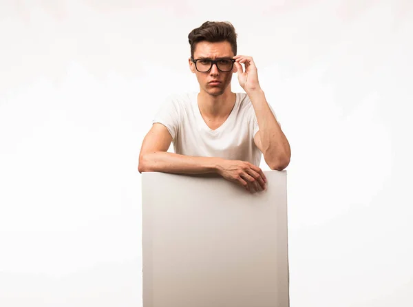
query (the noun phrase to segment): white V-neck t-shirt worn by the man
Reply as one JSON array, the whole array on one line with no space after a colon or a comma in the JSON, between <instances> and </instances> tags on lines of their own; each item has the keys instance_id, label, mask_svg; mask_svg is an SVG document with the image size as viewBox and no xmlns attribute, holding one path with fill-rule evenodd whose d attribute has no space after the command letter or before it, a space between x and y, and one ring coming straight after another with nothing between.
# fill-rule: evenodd
<instances>
[{"instance_id":1,"label":"white V-neck t-shirt worn by the man","mask_svg":"<svg viewBox=\"0 0 413 307\"><path fill-rule=\"evenodd\" d=\"M202 118L198 92L168 96L152 123L167 127L176 154L242 160L259 167L262 152L254 142L259 130L257 117L248 95L235 94L231 114L218 129L209 128Z\"/></svg>"}]
</instances>

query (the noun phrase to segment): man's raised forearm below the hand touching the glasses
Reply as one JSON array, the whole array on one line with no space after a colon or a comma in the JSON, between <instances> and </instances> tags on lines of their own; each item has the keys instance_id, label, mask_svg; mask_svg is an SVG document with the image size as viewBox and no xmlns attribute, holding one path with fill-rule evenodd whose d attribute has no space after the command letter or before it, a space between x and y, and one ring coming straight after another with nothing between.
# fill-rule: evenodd
<instances>
[{"instance_id":1,"label":"man's raised forearm below the hand touching the glasses","mask_svg":"<svg viewBox=\"0 0 413 307\"><path fill-rule=\"evenodd\" d=\"M272 169L284 169L290 162L290 144L268 106L264 92L258 89L248 92L248 96L253 103L258 127L260 127L258 133L264 159Z\"/></svg>"}]
</instances>

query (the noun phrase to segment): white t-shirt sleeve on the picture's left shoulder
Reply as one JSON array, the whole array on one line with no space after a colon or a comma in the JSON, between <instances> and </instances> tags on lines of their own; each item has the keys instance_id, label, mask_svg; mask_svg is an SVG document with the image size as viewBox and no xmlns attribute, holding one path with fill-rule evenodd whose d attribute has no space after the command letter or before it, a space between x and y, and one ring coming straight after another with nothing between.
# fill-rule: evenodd
<instances>
[{"instance_id":1,"label":"white t-shirt sleeve on the picture's left shoulder","mask_svg":"<svg viewBox=\"0 0 413 307\"><path fill-rule=\"evenodd\" d=\"M168 96L158 109L158 112L153 116L152 125L154 123L164 125L167 127L169 134L171 134L172 140L175 140L179 130L179 118L180 108L178 100L173 98L173 96Z\"/></svg>"}]
</instances>

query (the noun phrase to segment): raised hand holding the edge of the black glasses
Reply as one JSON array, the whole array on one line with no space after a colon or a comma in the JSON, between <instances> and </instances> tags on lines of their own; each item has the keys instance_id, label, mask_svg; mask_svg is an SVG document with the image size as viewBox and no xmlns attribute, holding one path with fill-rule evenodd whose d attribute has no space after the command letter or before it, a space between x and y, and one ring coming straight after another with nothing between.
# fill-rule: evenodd
<instances>
[{"instance_id":1,"label":"raised hand holding the edge of the black glasses","mask_svg":"<svg viewBox=\"0 0 413 307\"><path fill-rule=\"evenodd\" d=\"M238 81L241 87L246 93L260 89L260 83L258 82L257 67L251 56L234 56L235 67L237 67ZM245 65L245 72L241 63Z\"/></svg>"}]
</instances>

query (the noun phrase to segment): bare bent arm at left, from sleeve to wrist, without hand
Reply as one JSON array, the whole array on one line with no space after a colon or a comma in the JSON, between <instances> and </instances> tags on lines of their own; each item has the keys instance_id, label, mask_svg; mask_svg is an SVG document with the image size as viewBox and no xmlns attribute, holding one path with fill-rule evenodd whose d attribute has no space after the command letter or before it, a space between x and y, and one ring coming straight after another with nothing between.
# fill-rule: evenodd
<instances>
[{"instance_id":1,"label":"bare bent arm at left, from sleeve to wrist, without hand","mask_svg":"<svg viewBox=\"0 0 413 307\"><path fill-rule=\"evenodd\" d=\"M142 142L138 171L163 173L218 173L222 158L183 156L167 152L172 142L168 129L154 123Z\"/></svg>"}]
</instances>

